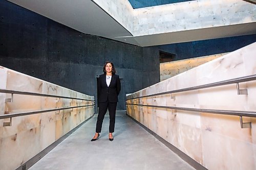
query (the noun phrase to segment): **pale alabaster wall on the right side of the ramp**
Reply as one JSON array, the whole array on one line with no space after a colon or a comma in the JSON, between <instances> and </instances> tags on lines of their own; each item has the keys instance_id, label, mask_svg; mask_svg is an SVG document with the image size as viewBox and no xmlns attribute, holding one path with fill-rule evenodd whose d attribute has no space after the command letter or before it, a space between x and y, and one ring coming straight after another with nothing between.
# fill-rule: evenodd
<instances>
[{"instance_id":1,"label":"pale alabaster wall on the right side of the ramp","mask_svg":"<svg viewBox=\"0 0 256 170\"><path fill-rule=\"evenodd\" d=\"M127 95L126 99L256 75L255 54L256 43L253 43ZM255 112L256 81L240 83L240 86L248 90L248 95L238 95L236 84L230 84L142 98L139 102L143 105ZM135 100L127 102L133 104ZM127 105L127 114L133 117L141 114L133 113L130 108ZM142 107L140 111L143 113L141 124L210 170L256 168L256 118L243 117L252 127L242 129L240 117L234 115L153 107Z\"/></svg>"}]
</instances>

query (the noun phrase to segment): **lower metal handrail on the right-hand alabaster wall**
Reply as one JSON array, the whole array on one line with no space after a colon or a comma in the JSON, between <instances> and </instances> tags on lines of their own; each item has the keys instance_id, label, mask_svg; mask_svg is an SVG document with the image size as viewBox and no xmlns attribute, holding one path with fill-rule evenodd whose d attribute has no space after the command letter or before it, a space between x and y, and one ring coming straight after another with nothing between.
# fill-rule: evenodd
<instances>
[{"instance_id":1,"label":"lower metal handrail on the right-hand alabaster wall","mask_svg":"<svg viewBox=\"0 0 256 170\"><path fill-rule=\"evenodd\" d=\"M227 115L256 117L256 111L195 109L195 108L183 108L183 107L173 107L173 106L155 106L155 105L141 105L141 104L128 104L128 103L126 103L126 105L136 105L136 106L157 107L157 108L173 109L173 110L184 110L184 111L193 111L193 112L205 112L205 113L214 113L214 114L227 114Z\"/></svg>"}]
</instances>

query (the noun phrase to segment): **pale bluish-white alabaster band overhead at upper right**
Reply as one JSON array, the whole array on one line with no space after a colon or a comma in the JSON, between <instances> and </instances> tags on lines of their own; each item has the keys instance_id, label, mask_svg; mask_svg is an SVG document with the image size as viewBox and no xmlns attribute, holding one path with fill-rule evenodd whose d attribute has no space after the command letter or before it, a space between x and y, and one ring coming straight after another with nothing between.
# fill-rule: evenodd
<instances>
[{"instance_id":1,"label":"pale bluish-white alabaster band overhead at upper right","mask_svg":"<svg viewBox=\"0 0 256 170\"><path fill-rule=\"evenodd\" d=\"M240 0L198 0L135 9L134 36L255 22L255 5Z\"/></svg>"}]
</instances>

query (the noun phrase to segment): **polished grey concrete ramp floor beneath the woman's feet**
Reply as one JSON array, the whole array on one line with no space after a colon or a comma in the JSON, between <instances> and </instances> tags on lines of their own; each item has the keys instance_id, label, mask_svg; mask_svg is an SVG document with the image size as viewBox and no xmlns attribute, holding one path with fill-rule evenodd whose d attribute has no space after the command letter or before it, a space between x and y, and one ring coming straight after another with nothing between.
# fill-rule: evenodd
<instances>
[{"instance_id":1,"label":"polished grey concrete ramp floor beneath the woman's feet","mask_svg":"<svg viewBox=\"0 0 256 170\"><path fill-rule=\"evenodd\" d=\"M125 112L117 112L110 141L107 115L98 140L91 142L96 114L29 169L194 169Z\"/></svg>"}]
</instances>

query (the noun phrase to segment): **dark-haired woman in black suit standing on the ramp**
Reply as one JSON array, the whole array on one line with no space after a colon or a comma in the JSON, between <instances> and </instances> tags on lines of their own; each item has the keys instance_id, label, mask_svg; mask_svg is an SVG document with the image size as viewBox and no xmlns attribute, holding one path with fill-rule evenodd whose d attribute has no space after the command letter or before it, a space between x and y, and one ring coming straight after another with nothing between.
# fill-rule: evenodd
<instances>
[{"instance_id":1,"label":"dark-haired woman in black suit standing on the ramp","mask_svg":"<svg viewBox=\"0 0 256 170\"><path fill-rule=\"evenodd\" d=\"M116 106L118 102L118 94L121 90L121 83L119 76L116 75L116 69L112 62L107 61L105 63L103 72L104 74L100 75L98 79L99 113L97 117L96 133L91 141L95 141L99 138L102 122L107 109L109 109L110 115L109 140L114 140L112 133L115 129Z\"/></svg>"}]
</instances>

